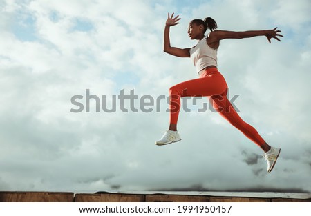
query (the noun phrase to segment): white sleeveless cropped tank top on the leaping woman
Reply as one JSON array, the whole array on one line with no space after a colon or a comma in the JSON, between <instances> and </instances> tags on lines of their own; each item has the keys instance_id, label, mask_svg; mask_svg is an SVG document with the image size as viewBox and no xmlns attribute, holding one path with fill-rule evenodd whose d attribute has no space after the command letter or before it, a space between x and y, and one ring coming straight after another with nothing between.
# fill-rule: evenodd
<instances>
[{"instance_id":1,"label":"white sleeveless cropped tank top on the leaping woman","mask_svg":"<svg viewBox=\"0 0 311 216\"><path fill-rule=\"evenodd\" d=\"M194 62L194 66L196 66L198 74L208 66L217 67L217 50L209 47L206 40L207 37L205 36L196 46L190 49L190 57Z\"/></svg>"}]
</instances>

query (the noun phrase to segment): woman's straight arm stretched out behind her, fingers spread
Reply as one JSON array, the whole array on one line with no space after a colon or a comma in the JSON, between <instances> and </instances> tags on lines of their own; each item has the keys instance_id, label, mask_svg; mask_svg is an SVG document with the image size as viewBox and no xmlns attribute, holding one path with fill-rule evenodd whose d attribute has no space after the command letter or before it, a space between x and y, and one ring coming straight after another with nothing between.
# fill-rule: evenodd
<instances>
[{"instance_id":1,"label":"woman's straight arm stretched out behind her, fingers spread","mask_svg":"<svg viewBox=\"0 0 311 216\"><path fill-rule=\"evenodd\" d=\"M254 31L245 31L245 32L232 32L232 31L224 31L224 30L216 30L210 33L209 37L211 39L211 43L223 40L223 39L243 39L247 37L256 37L256 36L265 36L269 43L271 43L271 39L274 38L278 41L281 41L278 37L283 37L280 35L281 31L276 30L276 28L272 30L254 30Z\"/></svg>"}]
</instances>

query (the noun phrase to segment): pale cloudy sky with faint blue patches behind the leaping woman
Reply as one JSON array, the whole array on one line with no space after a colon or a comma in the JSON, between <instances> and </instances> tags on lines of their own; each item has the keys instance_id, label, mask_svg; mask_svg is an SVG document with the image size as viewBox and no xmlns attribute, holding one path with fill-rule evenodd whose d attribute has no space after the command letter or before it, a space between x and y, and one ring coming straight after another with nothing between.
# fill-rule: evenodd
<instances>
[{"instance_id":1,"label":"pale cloudy sky with faint blue patches behind the leaping woman","mask_svg":"<svg viewBox=\"0 0 311 216\"><path fill-rule=\"evenodd\" d=\"M0 190L311 193L310 1L0 0L0 10ZM222 30L282 30L281 42L228 39L218 50L239 114L282 148L272 173L256 144L197 111L207 99L181 110L182 141L154 144L169 124L157 99L197 77L190 59L162 52L167 12L182 18L171 28L181 48L196 44L187 37L196 18ZM131 91L138 99L122 104L120 92ZM100 112L95 99L86 112L87 93ZM81 112L70 112L75 95Z\"/></svg>"}]
</instances>

